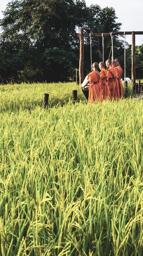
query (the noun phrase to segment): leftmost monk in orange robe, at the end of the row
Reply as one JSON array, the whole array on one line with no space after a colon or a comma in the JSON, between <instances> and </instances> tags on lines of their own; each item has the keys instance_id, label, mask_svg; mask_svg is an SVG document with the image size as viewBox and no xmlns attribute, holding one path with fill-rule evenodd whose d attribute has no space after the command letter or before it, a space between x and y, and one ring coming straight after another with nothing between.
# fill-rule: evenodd
<instances>
[{"instance_id":1,"label":"leftmost monk in orange robe, at the end of the row","mask_svg":"<svg viewBox=\"0 0 143 256\"><path fill-rule=\"evenodd\" d=\"M99 101L100 99L100 91L99 91L99 81L100 81L100 72L98 71L98 63L94 62L92 64L92 72L88 74L87 83L85 83L83 90L85 90L85 86L89 85L89 98L88 103Z\"/></svg>"}]
</instances>

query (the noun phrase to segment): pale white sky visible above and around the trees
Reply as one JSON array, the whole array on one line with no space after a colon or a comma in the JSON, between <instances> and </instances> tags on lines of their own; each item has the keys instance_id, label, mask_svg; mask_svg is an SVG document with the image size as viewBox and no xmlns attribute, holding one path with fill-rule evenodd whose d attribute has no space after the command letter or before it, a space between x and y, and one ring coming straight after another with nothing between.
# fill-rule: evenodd
<instances>
[{"instance_id":1,"label":"pale white sky visible above and around the trees","mask_svg":"<svg viewBox=\"0 0 143 256\"><path fill-rule=\"evenodd\" d=\"M0 18L11 0L0 0ZM113 7L117 16L116 22L121 22L120 31L143 31L143 0L85 0L87 6L98 4L101 8ZM109 31L111 32L111 31ZM92 33L92 31L91 31ZM126 35L126 41L132 44L132 36ZM143 44L143 35L135 35L136 45Z\"/></svg>"}]
</instances>

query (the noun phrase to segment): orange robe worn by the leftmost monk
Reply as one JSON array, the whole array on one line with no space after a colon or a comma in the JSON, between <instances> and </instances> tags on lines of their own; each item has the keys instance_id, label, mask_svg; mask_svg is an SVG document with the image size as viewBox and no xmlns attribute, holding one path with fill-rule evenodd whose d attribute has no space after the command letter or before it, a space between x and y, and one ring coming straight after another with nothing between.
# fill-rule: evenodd
<instances>
[{"instance_id":1,"label":"orange robe worn by the leftmost monk","mask_svg":"<svg viewBox=\"0 0 143 256\"><path fill-rule=\"evenodd\" d=\"M100 92L99 92L99 80L100 80L100 73L97 71L90 72L88 74L88 80L90 82L89 85L89 102L99 101Z\"/></svg>"}]
</instances>

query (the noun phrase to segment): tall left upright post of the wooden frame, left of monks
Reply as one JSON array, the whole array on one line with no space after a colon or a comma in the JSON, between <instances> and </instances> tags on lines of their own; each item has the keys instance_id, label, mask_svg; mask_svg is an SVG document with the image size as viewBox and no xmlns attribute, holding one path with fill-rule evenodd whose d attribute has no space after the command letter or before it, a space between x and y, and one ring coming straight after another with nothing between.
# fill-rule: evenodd
<instances>
[{"instance_id":1,"label":"tall left upright post of the wooden frame, left of monks","mask_svg":"<svg viewBox=\"0 0 143 256\"><path fill-rule=\"evenodd\" d=\"M79 59L79 83L80 84L84 80L83 64L84 64L84 36L83 36L83 29L80 29L80 59Z\"/></svg>"}]
</instances>

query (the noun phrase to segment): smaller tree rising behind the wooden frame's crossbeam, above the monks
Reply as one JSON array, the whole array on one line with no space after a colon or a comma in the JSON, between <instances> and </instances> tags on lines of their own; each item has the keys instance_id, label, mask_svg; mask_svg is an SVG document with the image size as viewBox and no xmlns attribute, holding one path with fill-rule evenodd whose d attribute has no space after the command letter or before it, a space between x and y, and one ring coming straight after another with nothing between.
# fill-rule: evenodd
<instances>
[{"instance_id":1,"label":"smaller tree rising behind the wooden frame's crossbeam, above the monks","mask_svg":"<svg viewBox=\"0 0 143 256\"><path fill-rule=\"evenodd\" d=\"M84 30L87 33L108 33L119 31L120 22L116 22L117 16L113 7L101 8L98 4L91 4L89 7L89 22ZM92 37L92 58L93 61L102 61L102 37ZM118 36L113 36L114 54L117 56L124 53L122 40ZM104 59L111 58L111 37L104 38ZM89 53L89 38L85 39L85 56L90 56ZM86 63L87 64L87 63Z\"/></svg>"}]
</instances>

